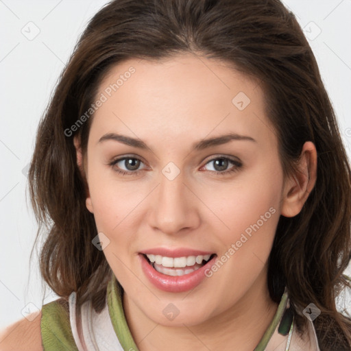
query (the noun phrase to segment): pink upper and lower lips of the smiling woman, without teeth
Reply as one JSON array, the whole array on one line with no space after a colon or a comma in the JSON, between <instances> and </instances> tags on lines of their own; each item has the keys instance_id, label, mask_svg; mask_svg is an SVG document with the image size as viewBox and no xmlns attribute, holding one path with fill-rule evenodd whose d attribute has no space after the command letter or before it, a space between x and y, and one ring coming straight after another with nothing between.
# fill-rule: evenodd
<instances>
[{"instance_id":1,"label":"pink upper and lower lips of the smiling woman, without teeth","mask_svg":"<svg viewBox=\"0 0 351 351\"><path fill-rule=\"evenodd\" d=\"M202 252L196 250L187 250L187 249L177 249L177 250L167 250L163 248L145 250L143 254L160 254L161 256L167 257L182 257L182 256L199 256L206 254L213 254L213 252ZM210 268L215 263L215 255L210 261L208 261L205 265L193 271L189 274L184 274L184 276L167 276L166 274L162 274L152 265L149 264L145 255L138 254L139 259L141 260L141 267L143 272L149 282L151 282L156 288L167 291L170 293L181 293L184 291L189 291L194 289L199 285L204 278L206 278L205 271Z\"/></svg>"}]
</instances>

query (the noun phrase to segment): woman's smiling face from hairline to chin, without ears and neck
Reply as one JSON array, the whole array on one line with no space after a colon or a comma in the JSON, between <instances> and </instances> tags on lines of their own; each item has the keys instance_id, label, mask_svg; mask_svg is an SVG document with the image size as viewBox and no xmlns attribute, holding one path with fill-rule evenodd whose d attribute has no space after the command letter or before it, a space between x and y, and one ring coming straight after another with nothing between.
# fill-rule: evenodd
<instances>
[{"instance_id":1,"label":"woman's smiling face from hairline to chin, without ears and neck","mask_svg":"<svg viewBox=\"0 0 351 351\"><path fill-rule=\"evenodd\" d=\"M98 99L86 206L134 311L195 325L267 293L284 184L258 82L190 54L128 60Z\"/></svg>"}]
</instances>

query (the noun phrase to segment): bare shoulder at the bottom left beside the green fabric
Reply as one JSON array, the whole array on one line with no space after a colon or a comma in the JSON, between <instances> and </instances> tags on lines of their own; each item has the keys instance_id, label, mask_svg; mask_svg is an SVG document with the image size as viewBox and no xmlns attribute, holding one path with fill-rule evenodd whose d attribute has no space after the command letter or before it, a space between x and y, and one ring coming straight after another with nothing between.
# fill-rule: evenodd
<instances>
[{"instance_id":1,"label":"bare shoulder at the bottom left beside the green fabric","mask_svg":"<svg viewBox=\"0 0 351 351\"><path fill-rule=\"evenodd\" d=\"M40 319L41 312L32 322L23 318L0 330L0 351L42 351Z\"/></svg>"}]
</instances>

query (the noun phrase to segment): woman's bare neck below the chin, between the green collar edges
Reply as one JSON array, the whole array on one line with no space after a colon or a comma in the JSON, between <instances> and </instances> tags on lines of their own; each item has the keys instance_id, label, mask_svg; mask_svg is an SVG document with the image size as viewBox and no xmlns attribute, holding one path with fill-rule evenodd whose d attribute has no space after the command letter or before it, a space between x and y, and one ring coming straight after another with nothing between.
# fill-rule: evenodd
<instances>
[{"instance_id":1,"label":"woman's bare neck below the chin, between the green collar edges","mask_svg":"<svg viewBox=\"0 0 351 351\"><path fill-rule=\"evenodd\" d=\"M263 337L277 310L269 298L263 275L234 306L195 326L162 326L149 319L126 293L125 318L140 351L238 350L252 351Z\"/></svg>"}]
</instances>

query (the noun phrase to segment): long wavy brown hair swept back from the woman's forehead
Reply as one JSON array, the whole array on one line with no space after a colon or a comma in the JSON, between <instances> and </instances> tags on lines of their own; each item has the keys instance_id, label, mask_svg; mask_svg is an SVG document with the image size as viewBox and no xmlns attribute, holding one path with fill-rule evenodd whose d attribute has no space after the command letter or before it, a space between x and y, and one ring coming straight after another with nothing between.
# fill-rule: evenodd
<instances>
[{"instance_id":1,"label":"long wavy brown hair swept back from the woman's forehead","mask_svg":"<svg viewBox=\"0 0 351 351\"><path fill-rule=\"evenodd\" d=\"M86 27L40 122L29 169L40 253L47 284L67 298L93 300L101 311L110 267L92 245L94 217L85 206L73 136L64 132L88 110L108 70L129 58L160 60L191 52L225 60L261 81L267 117L275 126L285 175L305 141L317 149L317 182L302 211L280 217L269 257L271 299L287 286L298 330L311 302L321 350L350 350L351 322L335 298L350 283L343 276L351 252L350 165L311 47L278 0L116 0ZM91 117L74 135L86 152ZM36 242L37 242L36 240Z\"/></svg>"}]
</instances>

